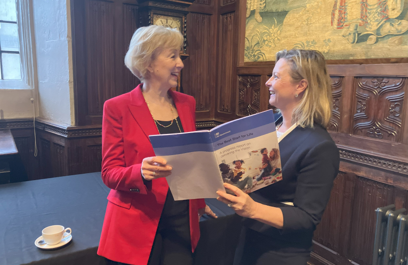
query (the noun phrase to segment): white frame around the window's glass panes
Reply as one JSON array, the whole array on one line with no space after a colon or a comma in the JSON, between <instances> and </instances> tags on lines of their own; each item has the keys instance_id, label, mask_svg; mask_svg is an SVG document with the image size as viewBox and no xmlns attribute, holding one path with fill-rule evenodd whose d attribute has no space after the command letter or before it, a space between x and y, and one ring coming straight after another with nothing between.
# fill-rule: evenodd
<instances>
[{"instance_id":1,"label":"white frame around the window's glass panes","mask_svg":"<svg viewBox=\"0 0 408 265\"><path fill-rule=\"evenodd\" d=\"M0 79L1 89L34 89L36 82L36 64L34 34L30 0L16 0L17 28L20 53L20 80ZM8 22L9 23L9 22ZM17 52L7 52L17 53ZM1 58L0 58L1 60Z\"/></svg>"}]
</instances>

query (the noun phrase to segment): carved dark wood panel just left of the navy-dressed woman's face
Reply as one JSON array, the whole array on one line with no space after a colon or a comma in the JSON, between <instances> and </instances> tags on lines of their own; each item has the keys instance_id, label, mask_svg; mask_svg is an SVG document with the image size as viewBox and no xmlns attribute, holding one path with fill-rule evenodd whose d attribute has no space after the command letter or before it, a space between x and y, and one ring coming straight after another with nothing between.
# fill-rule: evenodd
<instances>
[{"instance_id":1,"label":"carved dark wood panel just left of the navy-dressed woman's face","mask_svg":"<svg viewBox=\"0 0 408 265\"><path fill-rule=\"evenodd\" d=\"M238 115L248 116L260 111L261 76L238 76Z\"/></svg>"}]
</instances>

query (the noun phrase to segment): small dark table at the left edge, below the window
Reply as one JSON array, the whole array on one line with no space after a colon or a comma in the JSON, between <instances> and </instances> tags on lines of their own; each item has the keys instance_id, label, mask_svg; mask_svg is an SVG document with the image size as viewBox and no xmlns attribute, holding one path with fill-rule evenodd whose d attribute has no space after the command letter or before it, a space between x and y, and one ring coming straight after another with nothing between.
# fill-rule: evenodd
<instances>
[{"instance_id":1,"label":"small dark table at the left edge, below the window","mask_svg":"<svg viewBox=\"0 0 408 265\"><path fill-rule=\"evenodd\" d=\"M10 129L0 130L0 184L10 182L9 161L18 154Z\"/></svg>"}]
</instances>

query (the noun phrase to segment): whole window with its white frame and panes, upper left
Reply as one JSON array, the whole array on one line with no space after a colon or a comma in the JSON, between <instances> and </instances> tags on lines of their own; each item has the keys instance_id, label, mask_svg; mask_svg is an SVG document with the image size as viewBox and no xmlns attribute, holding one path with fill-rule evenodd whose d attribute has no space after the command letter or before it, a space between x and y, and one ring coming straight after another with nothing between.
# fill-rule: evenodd
<instances>
[{"instance_id":1,"label":"whole window with its white frame and panes, upper left","mask_svg":"<svg viewBox=\"0 0 408 265\"><path fill-rule=\"evenodd\" d=\"M0 89L34 88L30 1L0 0Z\"/></svg>"}]
</instances>

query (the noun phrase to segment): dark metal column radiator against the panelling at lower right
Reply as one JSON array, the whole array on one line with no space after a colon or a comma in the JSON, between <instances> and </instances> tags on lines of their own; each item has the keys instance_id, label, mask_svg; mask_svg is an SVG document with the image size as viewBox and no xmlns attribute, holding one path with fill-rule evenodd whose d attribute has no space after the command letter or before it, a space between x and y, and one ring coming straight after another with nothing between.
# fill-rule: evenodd
<instances>
[{"instance_id":1,"label":"dark metal column radiator against the panelling at lower right","mask_svg":"<svg viewBox=\"0 0 408 265\"><path fill-rule=\"evenodd\" d=\"M408 265L408 215L404 208L378 208L373 265Z\"/></svg>"}]
</instances>

